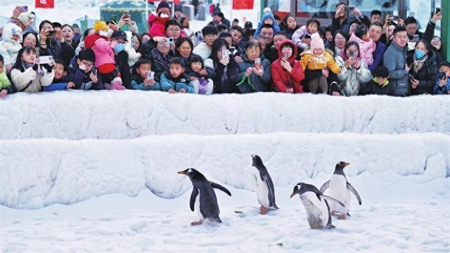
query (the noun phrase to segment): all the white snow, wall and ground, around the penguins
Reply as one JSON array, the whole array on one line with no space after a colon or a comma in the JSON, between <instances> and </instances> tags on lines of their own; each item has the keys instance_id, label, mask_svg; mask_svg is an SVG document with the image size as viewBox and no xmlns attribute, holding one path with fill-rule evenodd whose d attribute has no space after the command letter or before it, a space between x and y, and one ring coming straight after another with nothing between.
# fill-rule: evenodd
<instances>
[{"instance_id":1,"label":"all the white snow, wall and ground, around the penguins","mask_svg":"<svg viewBox=\"0 0 450 253\"><path fill-rule=\"evenodd\" d=\"M0 251L449 252L449 113L446 96L14 94L0 100ZM251 154L281 208L266 216ZM311 230L290 193L339 161L363 204ZM190 225L188 167L231 191L217 191L224 223Z\"/></svg>"}]
</instances>

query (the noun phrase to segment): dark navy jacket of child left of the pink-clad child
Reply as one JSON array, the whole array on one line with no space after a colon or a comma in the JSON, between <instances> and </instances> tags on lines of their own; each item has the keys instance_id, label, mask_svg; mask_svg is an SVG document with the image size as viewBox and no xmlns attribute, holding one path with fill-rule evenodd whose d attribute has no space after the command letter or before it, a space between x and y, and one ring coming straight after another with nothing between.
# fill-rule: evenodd
<instances>
[{"instance_id":1,"label":"dark navy jacket of child left of the pink-clad child","mask_svg":"<svg viewBox=\"0 0 450 253\"><path fill-rule=\"evenodd\" d=\"M97 72L98 82L94 84L89 77L91 72L85 73L84 70L80 70L77 63L78 56L75 56L70 61L70 65L68 67L68 81L73 82L75 87L73 89L82 89L82 90L101 90L105 89L103 87L103 83L101 82L100 74ZM92 71L92 70L91 70Z\"/></svg>"}]
</instances>

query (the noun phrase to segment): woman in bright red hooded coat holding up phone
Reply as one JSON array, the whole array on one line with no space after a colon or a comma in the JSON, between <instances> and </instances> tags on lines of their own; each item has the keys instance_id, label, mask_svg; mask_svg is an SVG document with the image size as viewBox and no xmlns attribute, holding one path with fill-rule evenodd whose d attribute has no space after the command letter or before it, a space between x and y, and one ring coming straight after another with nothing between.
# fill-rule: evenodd
<instances>
[{"instance_id":1,"label":"woman in bright red hooded coat holding up phone","mask_svg":"<svg viewBox=\"0 0 450 253\"><path fill-rule=\"evenodd\" d=\"M303 93L300 81L304 79L302 65L298 60L297 46L290 40L281 41L278 48L278 59L271 64L272 80L275 89L285 93Z\"/></svg>"}]
</instances>

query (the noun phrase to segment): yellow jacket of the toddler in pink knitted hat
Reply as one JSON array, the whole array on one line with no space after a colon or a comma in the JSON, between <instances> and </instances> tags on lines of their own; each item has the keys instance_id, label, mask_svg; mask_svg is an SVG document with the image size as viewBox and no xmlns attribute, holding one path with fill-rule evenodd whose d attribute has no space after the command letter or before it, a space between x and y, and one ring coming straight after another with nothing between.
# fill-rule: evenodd
<instances>
[{"instance_id":1,"label":"yellow jacket of the toddler in pink knitted hat","mask_svg":"<svg viewBox=\"0 0 450 253\"><path fill-rule=\"evenodd\" d=\"M308 70L323 70L328 67L335 74L340 72L338 63L335 62L333 56L327 51L323 51L322 56L315 56L311 50L307 50L300 53L300 56L302 57L300 63L302 64L303 71L307 68Z\"/></svg>"}]
</instances>

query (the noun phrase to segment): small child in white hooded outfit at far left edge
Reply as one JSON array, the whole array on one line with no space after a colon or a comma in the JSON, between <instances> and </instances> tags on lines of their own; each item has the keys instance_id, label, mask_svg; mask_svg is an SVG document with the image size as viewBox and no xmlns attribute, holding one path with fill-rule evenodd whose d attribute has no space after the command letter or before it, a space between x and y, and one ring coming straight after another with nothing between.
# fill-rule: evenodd
<instances>
[{"instance_id":1,"label":"small child in white hooded outfit at far left edge","mask_svg":"<svg viewBox=\"0 0 450 253\"><path fill-rule=\"evenodd\" d=\"M15 63L18 52L22 45L22 28L13 23L8 23L3 29L3 36L0 41L0 54L3 56L3 65L6 71L11 70L11 66Z\"/></svg>"}]
</instances>

